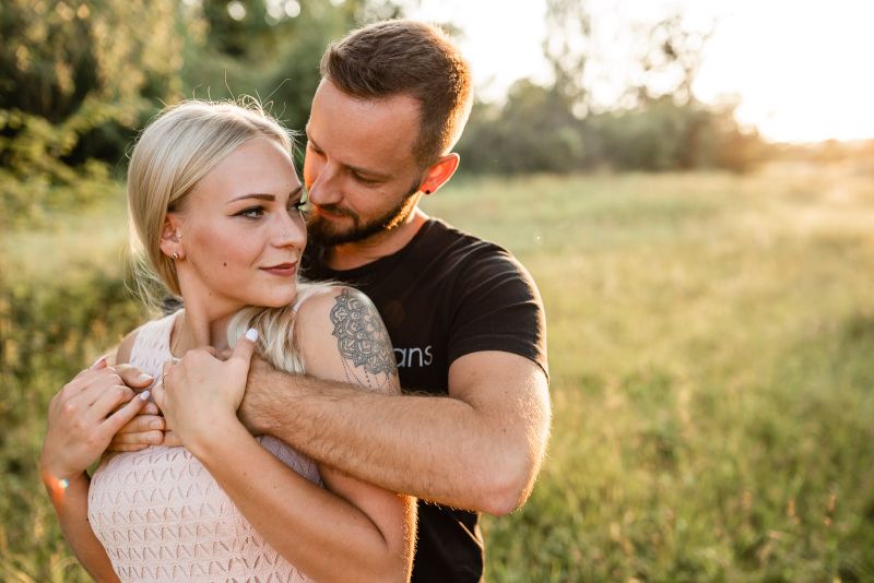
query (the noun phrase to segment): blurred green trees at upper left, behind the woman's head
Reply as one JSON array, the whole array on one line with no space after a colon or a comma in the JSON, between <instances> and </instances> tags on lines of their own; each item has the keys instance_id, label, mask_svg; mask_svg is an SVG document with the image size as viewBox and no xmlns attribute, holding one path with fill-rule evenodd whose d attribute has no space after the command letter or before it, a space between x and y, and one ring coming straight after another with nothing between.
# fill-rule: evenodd
<instances>
[{"instance_id":1,"label":"blurred green trees at upper left, behind the woman's head","mask_svg":"<svg viewBox=\"0 0 874 583\"><path fill-rule=\"evenodd\" d=\"M256 95L302 129L329 40L389 0L11 0L0 9L0 228L93 203L166 103Z\"/></svg>"}]
</instances>

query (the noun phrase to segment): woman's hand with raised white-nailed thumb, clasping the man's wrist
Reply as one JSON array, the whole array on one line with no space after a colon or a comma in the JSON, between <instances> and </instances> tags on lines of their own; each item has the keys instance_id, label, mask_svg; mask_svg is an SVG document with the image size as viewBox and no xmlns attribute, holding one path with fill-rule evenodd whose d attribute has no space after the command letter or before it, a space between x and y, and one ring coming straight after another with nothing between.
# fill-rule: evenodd
<instances>
[{"instance_id":1,"label":"woman's hand with raised white-nailed thumb, clasping the man's wrist","mask_svg":"<svg viewBox=\"0 0 874 583\"><path fill-rule=\"evenodd\" d=\"M167 430L196 456L221 437L228 424L239 423L237 408L257 340L258 332L249 330L227 360L220 360L215 349L206 347L189 350L176 364L164 366L153 390L155 403L164 413Z\"/></svg>"}]
</instances>

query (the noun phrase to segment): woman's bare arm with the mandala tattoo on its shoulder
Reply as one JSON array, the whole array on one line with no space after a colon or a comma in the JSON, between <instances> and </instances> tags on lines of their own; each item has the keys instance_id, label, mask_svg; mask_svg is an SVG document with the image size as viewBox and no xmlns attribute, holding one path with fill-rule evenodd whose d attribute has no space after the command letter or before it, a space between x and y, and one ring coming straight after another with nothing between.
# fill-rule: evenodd
<instances>
[{"instance_id":1,"label":"woman's bare arm with the mandala tattoo on its shoulder","mask_svg":"<svg viewBox=\"0 0 874 583\"><path fill-rule=\"evenodd\" d=\"M399 391L393 359L380 378L365 377L366 367L338 345L330 312L334 297L343 293L317 295L299 309L295 334L308 372L336 379L357 373L365 382ZM387 342L378 317L376 322ZM245 342L227 361L197 349L169 370L166 388L155 390L168 427L259 534L307 575L327 581L409 579L415 540L411 498L327 466L320 468L327 489L320 488L264 450L239 423L236 407L248 372L248 355L240 348ZM378 349L391 357L389 344Z\"/></svg>"}]
</instances>

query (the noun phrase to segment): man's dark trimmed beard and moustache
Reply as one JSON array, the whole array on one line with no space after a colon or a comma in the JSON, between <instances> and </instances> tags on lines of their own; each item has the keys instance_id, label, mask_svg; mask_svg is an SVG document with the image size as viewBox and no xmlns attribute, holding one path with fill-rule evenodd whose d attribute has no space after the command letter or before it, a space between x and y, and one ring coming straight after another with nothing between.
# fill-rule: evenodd
<instances>
[{"instance_id":1,"label":"man's dark trimmed beard and moustache","mask_svg":"<svg viewBox=\"0 0 874 583\"><path fill-rule=\"evenodd\" d=\"M329 219L318 213L310 213L307 216L307 237L310 242L321 247L332 247L334 245L363 241L379 233L391 230L406 221L410 213L413 212L417 192L418 182L412 187L410 192L404 194L394 207L367 222L363 222L361 216L350 210L324 205L322 209L331 214L352 218L352 226L345 229L336 228Z\"/></svg>"}]
</instances>

